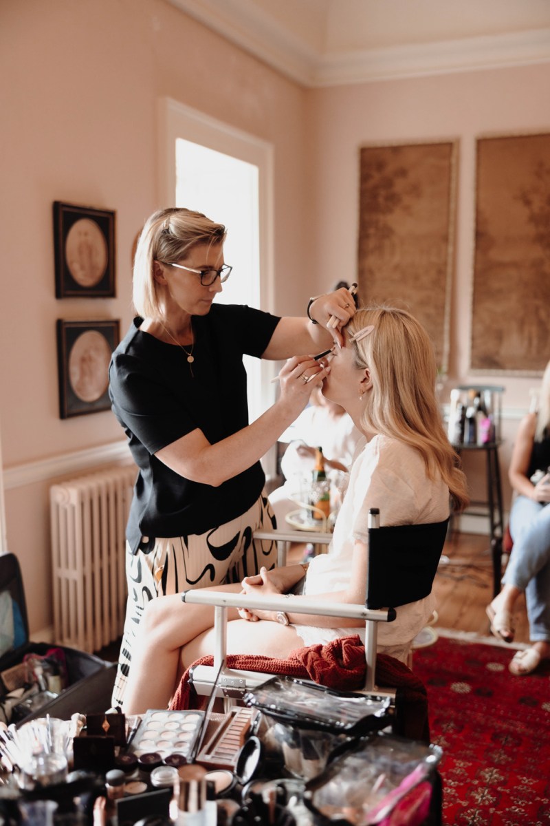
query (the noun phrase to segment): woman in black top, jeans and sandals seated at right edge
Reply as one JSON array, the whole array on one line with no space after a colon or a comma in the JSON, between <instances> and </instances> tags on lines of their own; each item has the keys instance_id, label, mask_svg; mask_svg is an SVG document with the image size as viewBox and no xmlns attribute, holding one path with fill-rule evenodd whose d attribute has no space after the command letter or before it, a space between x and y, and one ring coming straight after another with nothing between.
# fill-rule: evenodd
<instances>
[{"instance_id":1,"label":"woman in black top, jeans and sandals seated at right edge","mask_svg":"<svg viewBox=\"0 0 550 826\"><path fill-rule=\"evenodd\" d=\"M550 659L550 362L543 375L538 413L521 420L508 472L517 493L510 511L514 551L502 577L503 587L487 606L491 632L511 643L513 611L525 593L531 646L510 662L516 676L530 674Z\"/></svg>"}]
</instances>

